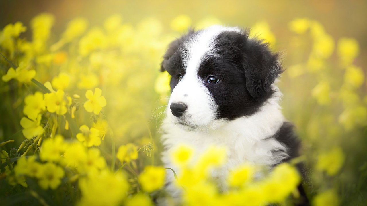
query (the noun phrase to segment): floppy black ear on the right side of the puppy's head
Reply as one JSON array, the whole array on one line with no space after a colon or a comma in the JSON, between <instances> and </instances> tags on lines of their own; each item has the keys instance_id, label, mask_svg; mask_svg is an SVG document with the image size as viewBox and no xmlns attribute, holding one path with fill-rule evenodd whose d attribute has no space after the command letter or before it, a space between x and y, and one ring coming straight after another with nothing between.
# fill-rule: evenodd
<instances>
[{"instance_id":1,"label":"floppy black ear on the right side of the puppy's head","mask_svg":"<svg viewBox=\"0 0 367 206\"><path fill-rule=\"evenodd\" d=\"M283 72L279 53L272 53L268 44L250 38L244 44L243 52L246 88L252 98L263 102L275 92L272 84Z\"/></svg>"}]
</instances>

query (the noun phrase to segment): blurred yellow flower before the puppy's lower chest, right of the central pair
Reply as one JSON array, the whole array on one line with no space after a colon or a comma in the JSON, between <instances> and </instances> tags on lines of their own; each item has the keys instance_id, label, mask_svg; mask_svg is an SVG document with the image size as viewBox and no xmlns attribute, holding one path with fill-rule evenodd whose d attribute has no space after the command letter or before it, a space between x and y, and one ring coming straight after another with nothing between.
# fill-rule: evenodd
<instances>
[{"instance_id":1,"label":"blurred yellow flower before the puppy's lower chest, right of the central pair","mask_svg":"<svg viewBox=\"0 0 367 206\"><path fill-rule=\"evenodd\" d=\"M228 183L232 187L241 187L252 180L254 172L255 168L250 164L239 166L230 171Z\"/></svg>"}]
</instances>

